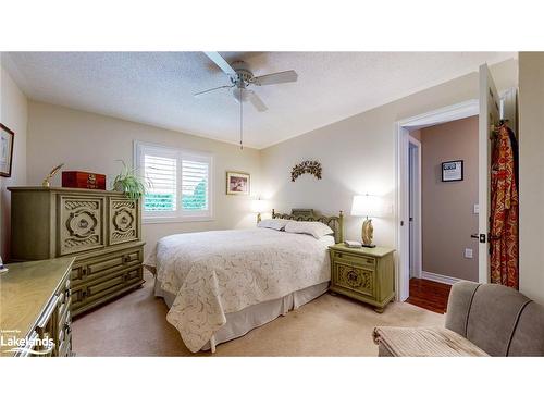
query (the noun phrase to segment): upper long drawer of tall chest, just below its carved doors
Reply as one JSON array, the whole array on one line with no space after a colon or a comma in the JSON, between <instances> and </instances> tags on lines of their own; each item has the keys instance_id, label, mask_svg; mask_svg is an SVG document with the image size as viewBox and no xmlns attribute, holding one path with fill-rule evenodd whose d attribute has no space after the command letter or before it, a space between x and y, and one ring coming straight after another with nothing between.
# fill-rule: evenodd
<instances>
[{"instance_id":1,"label":"upper long drawer of tall chest, just below its carved doors","mask_svg":"<svg viewBox=\"0 0 544 408\"><path fill-rule=\"evenodd\" d=\"M143 257L143 249L138 247L82 261L72 269L73 286L77 287L87 281L101 279L112 271L137 265L141 263Z\"/></svg>"}]
</instances>

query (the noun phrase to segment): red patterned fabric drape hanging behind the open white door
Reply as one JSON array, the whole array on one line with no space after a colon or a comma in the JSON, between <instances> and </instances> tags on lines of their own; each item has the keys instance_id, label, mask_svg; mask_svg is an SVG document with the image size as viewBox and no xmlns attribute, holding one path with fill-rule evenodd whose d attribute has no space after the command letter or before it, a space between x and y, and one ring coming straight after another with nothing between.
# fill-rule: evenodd
<instances>
[{"instance_id":1,"label":"red patterned fabric drape hanging behind the open white door","mask_svg":"<svg viewBox=\"0 0 544 408\"><path fill-rule=\"evenodd\" d=\"M495 132L491 169L491 282L519 287L518 152L514 132Z\"/></svg>"}]
</instances>

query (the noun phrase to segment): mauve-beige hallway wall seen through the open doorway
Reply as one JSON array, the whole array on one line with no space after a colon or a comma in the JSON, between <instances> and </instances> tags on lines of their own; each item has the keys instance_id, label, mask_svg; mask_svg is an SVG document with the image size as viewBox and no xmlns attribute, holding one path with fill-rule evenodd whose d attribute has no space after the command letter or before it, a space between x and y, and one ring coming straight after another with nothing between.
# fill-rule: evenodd
<instances>
[{"instance_id":1,"label":"mauve-beige hallway wall seen through the open doorway","mask_svg":"<svg viewBox=\"0 0 544 408\"><path fill-rule=\"evenodd\" d=\"M442 182L442 162L463 160L463 180ZM421 129L423 271L478 282L478 116ZM473 258L465 258L465 248Z\"/></svg>"}]
</instances>

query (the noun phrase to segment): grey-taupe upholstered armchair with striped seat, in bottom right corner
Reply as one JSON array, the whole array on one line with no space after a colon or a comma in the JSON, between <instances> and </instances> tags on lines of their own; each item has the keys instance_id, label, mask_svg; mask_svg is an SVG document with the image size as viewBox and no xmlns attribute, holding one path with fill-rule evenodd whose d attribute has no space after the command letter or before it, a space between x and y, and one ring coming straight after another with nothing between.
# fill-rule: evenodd
<instances>
[{"instance_id":1,"label":"grey-taupe upholstered armchair with striped seat, in bottom right corner","mask_svg":"<svg viewBox=\"0 0 544 408\"><path fill-rule=\"evenodd\" d=\"M511 288L452 287L445 327L375 327L379 356L544 356L544 307Z\"/></svg>"}]
</instances>

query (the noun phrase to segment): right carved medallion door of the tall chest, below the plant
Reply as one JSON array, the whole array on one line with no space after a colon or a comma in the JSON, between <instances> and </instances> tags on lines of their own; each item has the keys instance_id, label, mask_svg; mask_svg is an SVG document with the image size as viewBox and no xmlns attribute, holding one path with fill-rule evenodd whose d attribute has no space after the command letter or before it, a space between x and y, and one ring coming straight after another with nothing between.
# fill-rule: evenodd
<instances>
[{"instance_id":1,"label":"right carved medallion door of the tall chest, below the plant","mask_svg":"<svg viewBox=\"0 0 544 408\"><path fill-rule=\"evenodd\" d=\"M109 199L109 244L122 244L139 238L139 201L126 198Z\"/></svg>"}]
</instances>

